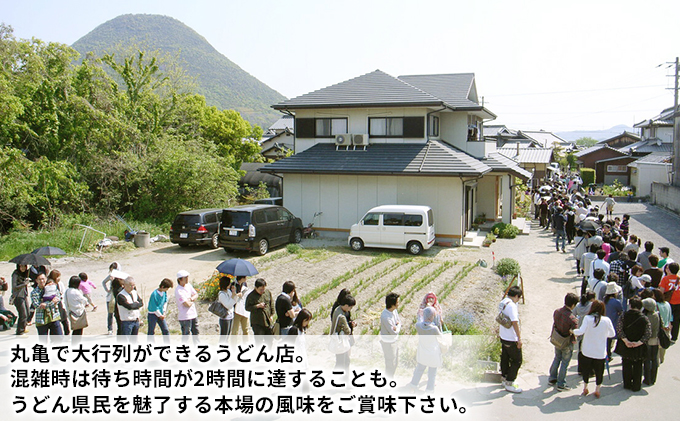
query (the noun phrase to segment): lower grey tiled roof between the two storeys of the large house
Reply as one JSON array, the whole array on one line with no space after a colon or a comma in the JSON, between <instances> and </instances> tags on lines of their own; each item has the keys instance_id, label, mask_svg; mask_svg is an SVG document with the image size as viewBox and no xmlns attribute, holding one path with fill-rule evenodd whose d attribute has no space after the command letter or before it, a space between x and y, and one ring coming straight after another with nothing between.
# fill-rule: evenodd
<instances>
[{"instance_id":1,"label":"lower grey tiled roof between the two storeys of the large house","mask_svg":"<svg viewBox=\"0 0 680 421\"><path fill-rule=\"evenodd\" d=\"M260 171L293 174L478 176L491 167L443 142L374 143L363 149L337 149L318 143L268 164Z\"/></svg>"}]
</instances>

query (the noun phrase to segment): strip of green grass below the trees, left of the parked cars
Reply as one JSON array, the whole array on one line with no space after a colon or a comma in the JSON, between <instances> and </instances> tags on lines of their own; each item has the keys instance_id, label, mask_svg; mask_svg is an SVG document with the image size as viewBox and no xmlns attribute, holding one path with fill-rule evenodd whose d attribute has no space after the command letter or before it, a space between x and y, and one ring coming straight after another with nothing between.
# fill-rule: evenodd
<instances>
[{"instance_id":1,"label":"strip of green grass below the trees, left of the parked cars","mask_svg":"<svg viewBox=\"0 0 680 421\"><path fill-rule=\"evenodd\" d=\"M98 231L105 232L107 236L116 236L120 240L125 238L127 227L117 220L101 219L88 215L70 217L61 225L53 229L13 229L8 234L0 237L0 260L9 260L19 254L30 253L32 250L43 246L54 246L64 250L67 255L78 254L80 242L83 240L83 228L74 224L88 225ZM151 237L158 234L168 235L170 223L156 224L154 222L128 221L136 230L144 230ZM93 251L95 245L104 238L102 234L92 231L87 232L83 242L82 251Z\"/></svg>"}]
</instances>

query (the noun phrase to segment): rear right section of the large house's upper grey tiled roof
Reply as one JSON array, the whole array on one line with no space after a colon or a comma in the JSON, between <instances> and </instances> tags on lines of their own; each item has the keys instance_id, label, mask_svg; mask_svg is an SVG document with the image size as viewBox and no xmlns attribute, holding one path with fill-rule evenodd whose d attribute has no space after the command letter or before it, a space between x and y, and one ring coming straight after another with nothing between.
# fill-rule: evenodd
<instances>
[{"instance_id":1,"label":"rear right section of the large house's upper grey tiled roof","mask_svg":"<svg viewBox=\"0 0 680 421\"><path fill-rule=\"evenodd\" d=\"M479 108L479 104L475 102L476 98L470 98L470 91L475 82L474 73L399 76L399 79L442 99L453 107Z\"/></svg>"}]
</instances>

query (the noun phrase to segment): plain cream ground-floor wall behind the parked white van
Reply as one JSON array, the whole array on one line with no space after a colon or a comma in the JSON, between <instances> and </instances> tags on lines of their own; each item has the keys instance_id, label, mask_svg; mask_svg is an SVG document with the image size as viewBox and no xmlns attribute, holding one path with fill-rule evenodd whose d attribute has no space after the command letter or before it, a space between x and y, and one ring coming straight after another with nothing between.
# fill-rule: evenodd
<instances>
[{"instance_id":1,"label":"plain cream ground-floor wall behind the parked white van","mask_svg":"<svg viewBox=\"0 0 680 421\"><path fill-rule=\"evenodd\" d=\"M430 206L437 238L459 243L463 236L457 177L285 174L284 186L284 206L303 224L323 212L315 223L320 231L348 233L372 207L400 204Z\"/></svg>"}]
</instances>

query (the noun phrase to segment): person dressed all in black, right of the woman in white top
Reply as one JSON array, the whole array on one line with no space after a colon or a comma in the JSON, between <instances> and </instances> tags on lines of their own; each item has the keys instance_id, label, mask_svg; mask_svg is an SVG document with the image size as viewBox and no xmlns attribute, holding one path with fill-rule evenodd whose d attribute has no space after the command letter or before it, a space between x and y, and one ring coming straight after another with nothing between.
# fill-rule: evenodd
<instances>
[{"instance_id":1,"label":"person dressed all in black, right of the woman in white top","mask_svg":"<svg viewBox=\"0 0 680 421\"><path fill-rule=\"evenodd\" d=\"M614 352L622 359L623 388L638 392L642 388L642 367L647 358L647 345L652 336L652 325L642 314L642 301L633 297L629 309L619 318L616 327L619 340Z\"/></svg>"}]
</instances>

